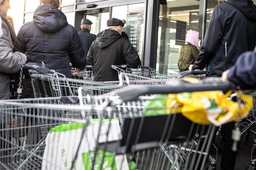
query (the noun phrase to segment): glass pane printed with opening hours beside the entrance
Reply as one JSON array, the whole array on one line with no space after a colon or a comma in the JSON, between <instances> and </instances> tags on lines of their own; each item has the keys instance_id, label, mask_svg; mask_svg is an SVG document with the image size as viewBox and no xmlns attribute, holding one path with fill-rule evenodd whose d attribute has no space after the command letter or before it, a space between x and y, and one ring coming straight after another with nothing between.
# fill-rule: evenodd
<instances>
[{"instance_id":1,"label":"glass pane printed with opening hours beside the entrance","mask_svg":"<svg viewBox=\"0 0 256 170\"><path fill-rule=\"evenodd\" d=\"M144 30L144 3L112 7L112 18L123 19L125 32L129 36L134 49L141 58L143 30Z\"/></svg>"}]
</instances>

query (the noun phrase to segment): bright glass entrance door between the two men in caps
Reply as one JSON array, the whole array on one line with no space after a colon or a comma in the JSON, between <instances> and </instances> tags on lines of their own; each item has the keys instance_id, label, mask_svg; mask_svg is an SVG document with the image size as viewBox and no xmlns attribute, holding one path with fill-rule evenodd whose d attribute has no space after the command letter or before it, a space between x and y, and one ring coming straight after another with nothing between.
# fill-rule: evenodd
<instances>
[{"instance_id":1,"label":"bright glass entrance door between the two men in caps","mask_svg":"<svg viewBox=\"0 0 256 170\"><path fill-rule=\"evenodd\" d=\"M92 21L92 30L90 33L97 35L107 29L107 20L109 19L109 8L87 10L84 18Z\"/></svg>"}]
</instances>

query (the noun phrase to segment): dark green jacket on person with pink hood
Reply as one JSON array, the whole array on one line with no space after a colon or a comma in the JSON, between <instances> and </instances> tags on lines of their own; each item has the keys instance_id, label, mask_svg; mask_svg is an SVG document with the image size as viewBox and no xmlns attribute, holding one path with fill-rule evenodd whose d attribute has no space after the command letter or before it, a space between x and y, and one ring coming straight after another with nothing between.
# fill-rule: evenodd
<instances>
[{"instance_id":1,"label":"dark green jacket on person with pink hood","mask_svg":"<svg viewBox=\"0 0 256 170\"><path fill-rule=\"evenodd\" d=\"M180 71L188 70L190 64L194 64L196 58L198 57L199 51L196 46L190 44L184 45L180 50L180 58L178 62L178 67Z\"/></svg>"}]
</instances>

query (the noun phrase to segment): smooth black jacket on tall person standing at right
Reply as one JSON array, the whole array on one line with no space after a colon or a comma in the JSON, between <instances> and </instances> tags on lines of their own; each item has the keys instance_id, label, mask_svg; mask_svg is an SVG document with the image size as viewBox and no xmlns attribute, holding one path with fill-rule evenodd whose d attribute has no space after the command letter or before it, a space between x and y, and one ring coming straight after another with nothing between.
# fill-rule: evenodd
<instances>
[{"instance_id":1,"label":"smooth black jacket on tall person standing at right","mask_svg":"<svg viewBox=\"0 0 256 170\"><path fill-rule=\"evenodd\" d=\"M256 45L256 6L252 0L228 0L217 5L209 22L200 54L192 70L220 77L245 51Z\"/></svg>"}]
</instances>

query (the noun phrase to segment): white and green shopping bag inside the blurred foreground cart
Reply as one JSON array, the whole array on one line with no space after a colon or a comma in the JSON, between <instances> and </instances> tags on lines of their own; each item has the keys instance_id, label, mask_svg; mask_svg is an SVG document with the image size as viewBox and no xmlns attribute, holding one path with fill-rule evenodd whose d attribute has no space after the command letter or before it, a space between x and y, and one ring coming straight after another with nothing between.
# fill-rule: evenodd
<instances>
[{"instance_id":1,"label":"white and green shopping bag inside the blurred foreground cart","mask_svg":"<svg viewBox=\"0 0 256 170\"><path fill-rule=\"evenodd\" d=\"M109 134L107 135L110 122ZM69 169L72 160L76 154L78 144L81 139L84 123L68 123L61 124L51 129L46 136L45 151L43 155L42 169L49 169L56 166L56 169ZM100 120L93 119L86 127L86 131L78 152L78 157L72 169L92 169L92 162L95 157L93 169L100 170L132 170L134 169L134 162L127 162L126 154L115 155L113 152L107 152L103 150L97 150L95 152L95 146L97 137L100 131L99 143L107 141L115 141L121 136L121 129L119 121L116 119L105 119L101 123ZM104 156L104 160L102 158ZM133 168L130 168L133 167Z\"/></svg>"}]
</instances>

